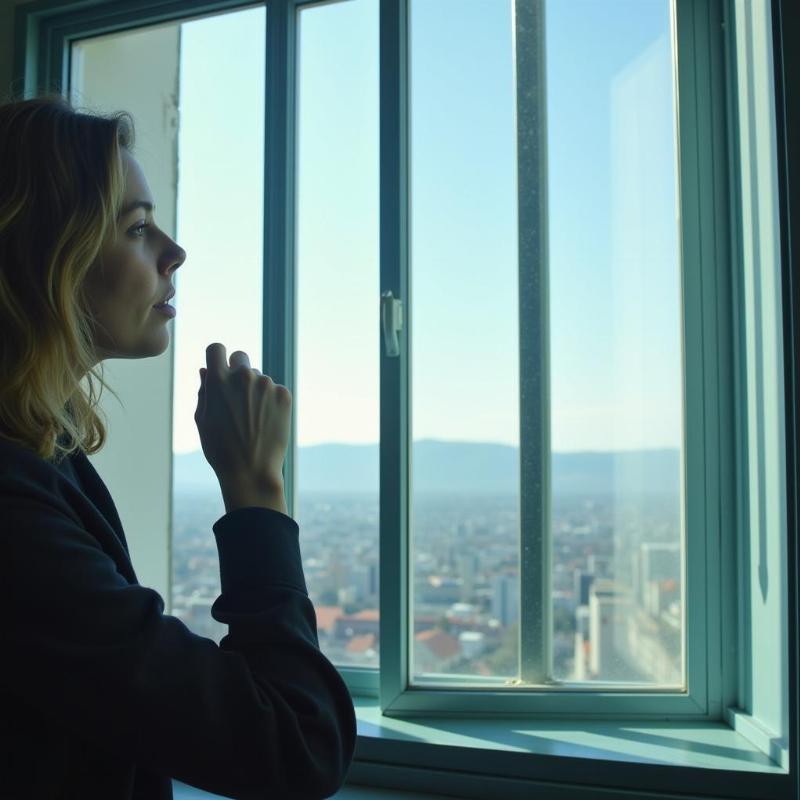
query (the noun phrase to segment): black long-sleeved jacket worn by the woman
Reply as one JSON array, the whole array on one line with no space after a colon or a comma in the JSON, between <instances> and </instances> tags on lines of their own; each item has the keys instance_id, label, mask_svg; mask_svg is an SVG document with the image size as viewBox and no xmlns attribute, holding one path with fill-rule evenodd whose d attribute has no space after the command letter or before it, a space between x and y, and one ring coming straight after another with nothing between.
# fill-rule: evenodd
<instances>
[{"instance_id":1,"label":"black long-sleeved jacket worn by the woman","mask_svg":"<svg viewBox=\"0 0 800 800\"><path fill-rule=\"evenodd\" d=\"M231 798L338 791L353 703L319 650L297 523L213 525L219 646L139 585L108 489L0 438L0 798L164 800L172 778Z\"/></svg>"}]
</instances>

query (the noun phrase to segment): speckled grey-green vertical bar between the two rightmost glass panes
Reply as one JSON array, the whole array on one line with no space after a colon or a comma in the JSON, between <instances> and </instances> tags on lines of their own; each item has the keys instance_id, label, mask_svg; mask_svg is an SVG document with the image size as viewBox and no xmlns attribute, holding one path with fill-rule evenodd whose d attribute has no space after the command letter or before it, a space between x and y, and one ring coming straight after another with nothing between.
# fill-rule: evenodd
<instances>
[{"instance_id":1,"label":"speckled grey-green vertical bar between the two rightmost glass panes","mask_svg":"<svg viewBox=\"0 0 800 800\"><path fill-rule=\"evenodd\" d=\"M544 0L515 3L520 369L519 681L552 674Z\"/></svg>"}]
</instances>

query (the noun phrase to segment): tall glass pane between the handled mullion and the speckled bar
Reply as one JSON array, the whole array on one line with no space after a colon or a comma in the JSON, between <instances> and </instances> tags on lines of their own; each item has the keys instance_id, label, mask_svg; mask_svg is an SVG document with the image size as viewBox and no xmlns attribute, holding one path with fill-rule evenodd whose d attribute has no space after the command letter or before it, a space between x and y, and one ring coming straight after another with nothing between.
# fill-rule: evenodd
<instances>
[{"instance_id":1,"label":"tall glass pane between the handled mullion and the speckled bar","mask_svg":"<svg viewBox=\"0 0 800 800\"><path fill-rule=\"evenodd\" d=\"M512 4L411 0L411 673L517 675Z\"/></svg>"}]
</instances>

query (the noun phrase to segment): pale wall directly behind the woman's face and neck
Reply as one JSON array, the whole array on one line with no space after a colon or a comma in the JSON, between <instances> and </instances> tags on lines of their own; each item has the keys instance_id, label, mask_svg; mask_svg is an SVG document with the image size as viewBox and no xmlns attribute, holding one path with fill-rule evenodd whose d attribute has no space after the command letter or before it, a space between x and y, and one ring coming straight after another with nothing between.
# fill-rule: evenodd
<instances>
[{"instance_id":1,"label":"pale wall directly behind the woman's face and neck","mask_svg":"<svg viewBox=\"0 0 800 800\"><path fill-rule=\"evenodd\" d=\"M178 69L180 25L111 34L73 46L71 99L76 108L128 111L134 118L134 155L158 209L158 224L175 237L178 181ZM170 344L149 359L104 361L110 393L106 446L89 460L117 505L139 582L169 596L172 504L172 372Z\"/></svg>"}]
</instances>

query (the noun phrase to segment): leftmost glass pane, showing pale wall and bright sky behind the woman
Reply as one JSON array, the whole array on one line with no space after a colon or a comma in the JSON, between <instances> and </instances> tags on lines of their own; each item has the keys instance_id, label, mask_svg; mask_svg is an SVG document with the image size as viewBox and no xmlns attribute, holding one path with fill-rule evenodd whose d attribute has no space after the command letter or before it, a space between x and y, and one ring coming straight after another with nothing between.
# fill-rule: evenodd
<instances>
[{"instance_id":1,"label":"leftmost glass pane, showing pale wall and bright sky behind the woman","mask_svg":"<svg viewBox=\"0 0 800 800\"><path fill-rule=\"evenodd\" d=\"M169 613L217 643L228 626L210 614L220 593L212 525L225 509L194 410L208 344L222 342L228 356L244 350L262 364L265 13L261 6L72 46L73 92L98 110L133 113L134 155L154 193L156 185L171 193L156 195L156 222L173 213L162 204L171 199L174 238L187 253L173 276ZM140 112L151 106L153 114Z\"/></svg>"}]
</instances>

